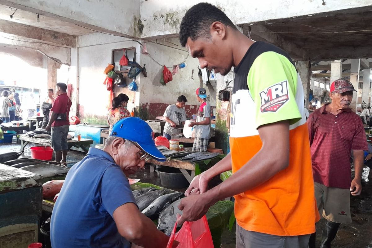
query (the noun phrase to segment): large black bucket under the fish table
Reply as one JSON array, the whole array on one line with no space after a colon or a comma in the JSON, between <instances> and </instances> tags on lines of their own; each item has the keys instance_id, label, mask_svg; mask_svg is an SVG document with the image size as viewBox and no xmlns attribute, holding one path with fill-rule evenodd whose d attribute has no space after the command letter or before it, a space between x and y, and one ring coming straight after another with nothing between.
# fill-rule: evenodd
<instances>
[{"instance_id":1,"label":"large black bucket under the fish table","mask_svg":"<svg viewBox=\"0 0 372 248\"><path fill-rule=\"evenodd\" d=\"M163 166L157 171L161 186L165 188L186 188L189 186L189 181L187 181L182 172L177 168Z\"/></svg>"}]
</instances>

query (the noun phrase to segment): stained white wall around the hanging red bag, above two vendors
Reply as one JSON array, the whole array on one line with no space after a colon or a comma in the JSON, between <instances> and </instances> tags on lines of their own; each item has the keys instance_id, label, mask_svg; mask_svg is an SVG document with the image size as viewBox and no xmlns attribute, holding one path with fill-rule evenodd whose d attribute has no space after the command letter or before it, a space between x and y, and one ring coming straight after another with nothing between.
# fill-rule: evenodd
<instances>
[{"instance_id":1,"label":"stained white wall around the hanging red bag, above two vendors","mask_svg":"<svg viewBox=\"0 0 372 248\"><path fill-rule=\"evenodd\" d=\"M174 46L176 48L182 48L178 38L166 38L157 41L160 44L167 46ZM170 43L171 42L171 43ZM180 64L185 60L189 54L186 51L180 51L174 48L169 48L164 45L154 44L147 42L147 51L150 55L157 60L160 64L171 67L176 64ZM198 76L198 65L199 61L196 58L189 56L186 59L187 66L179 69L179 73L173 75L173 80L163 86L160 83L160 77L163 73L163 66L158 65L154 62L150 56L141 55L141 65L146 64L147 78L141 77L141 103L175 103L177 97L180 95L186 96L188 105L199 105L196 100L195 91L199 87L206 88L207 94L210 95L211 106L216 106L216 84L212 82L211 85L206 86L202 83L201 77ZM172 68L169 68L172 71ZM192 80L192 70L193 80Z\"/></svg>"}]
</instances>

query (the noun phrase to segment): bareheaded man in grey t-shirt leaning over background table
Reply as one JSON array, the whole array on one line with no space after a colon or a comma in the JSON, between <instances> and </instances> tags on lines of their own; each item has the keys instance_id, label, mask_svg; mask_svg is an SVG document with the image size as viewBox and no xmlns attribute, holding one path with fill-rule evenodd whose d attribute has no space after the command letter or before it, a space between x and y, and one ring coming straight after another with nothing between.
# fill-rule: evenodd
<instances>
[{"instance_id":1,"label":"bareheaded man in grey t-shirt leaning over background table","mask_svg":"<svg viewBox=\"0 0 372 248\"><path fill-rule=\"evenodd\" d=\"M164 119L166 124L164 126L164 134L168 140L171 139L171 135L174 133L180 133L180 129L176 129L177 125L185 125L186 121L186 111L183 109L185 107L187 100L185 96L179 96L176 104L171 104L167 107L164 112Z\"/></svg>"}]
</instances>

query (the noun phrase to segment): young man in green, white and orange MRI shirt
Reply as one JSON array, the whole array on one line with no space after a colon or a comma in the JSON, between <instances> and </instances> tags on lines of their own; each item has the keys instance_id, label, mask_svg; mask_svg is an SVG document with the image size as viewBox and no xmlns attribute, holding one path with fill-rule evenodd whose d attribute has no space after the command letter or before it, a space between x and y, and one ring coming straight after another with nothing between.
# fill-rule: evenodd
<instances>
[{"instance_id":1,"label":"young man in green, white and orange MRI shirt","mask_svg":"<svg viewBox=\"0 0 372 248\"><path fill-rule=\"evenodd\" d=\"M319 219L301 79L289 55L239 32L217 7L187 11L180 42L201 68L226 75L234 66L231 152L194 178L180 222L201 218L218 200L235 197L236 247L305 248ZM208 188L224 171L233 175Z\"/></svg>"}]
</instances>

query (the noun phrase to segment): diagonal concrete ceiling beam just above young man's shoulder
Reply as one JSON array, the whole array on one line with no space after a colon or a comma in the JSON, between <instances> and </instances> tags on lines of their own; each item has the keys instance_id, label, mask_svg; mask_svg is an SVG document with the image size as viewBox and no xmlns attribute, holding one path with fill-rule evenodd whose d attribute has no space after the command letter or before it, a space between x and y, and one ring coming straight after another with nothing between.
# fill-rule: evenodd
<instances>
[{"instance_id":1,"label":"diagonal concrete ceiling beam just above young man's shoulder","mask_svg":"<svg viewBox=\"0 0 372 248\"><path fill-rule=\"evenodd\" d=\"M243 25L245 35L248 34L248 27L249 25ZM307 60L309 58L307 56L307 52L300 46L294 44L291 41L283 39L280 35L276 33L272 33L271 30L265 28L262 25L259 24L251 25L251 38L255 41L264 40L282 48L284 51L288 52L289 56L291 56L292 59Z\"/></svg>"}]
</instances>

